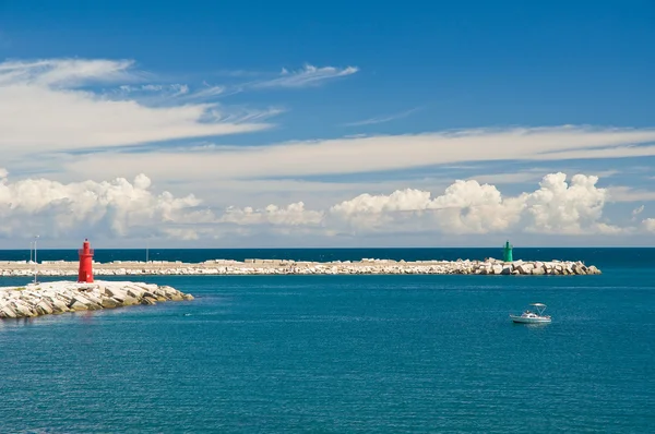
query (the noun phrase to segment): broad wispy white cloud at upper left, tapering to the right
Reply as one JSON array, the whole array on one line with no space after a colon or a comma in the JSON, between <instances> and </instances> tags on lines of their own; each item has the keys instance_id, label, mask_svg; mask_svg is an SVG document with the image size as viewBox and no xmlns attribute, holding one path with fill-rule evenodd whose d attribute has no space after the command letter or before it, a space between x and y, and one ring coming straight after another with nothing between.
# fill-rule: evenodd
<instances>
[{"instance_id":1,"label":"broad wispy white cloud at upper left, tapering to the right","mask_svg":"<svg viewBox=\"0 0 655 434\"><path fill-rule=\"evenodd\" d=\"M43 60L0 63L0 146L5 155L131 145L243 133L269 128L231 118L216 120L215 104L147 107L79 87L128 82L130 61ZM144 85L147 86L147 85ZM142 91L148 89L141 87ZM152 87L156 91L156 86ZM177 91L188 92L181 85Z\"/></svg>"}]
</instances>

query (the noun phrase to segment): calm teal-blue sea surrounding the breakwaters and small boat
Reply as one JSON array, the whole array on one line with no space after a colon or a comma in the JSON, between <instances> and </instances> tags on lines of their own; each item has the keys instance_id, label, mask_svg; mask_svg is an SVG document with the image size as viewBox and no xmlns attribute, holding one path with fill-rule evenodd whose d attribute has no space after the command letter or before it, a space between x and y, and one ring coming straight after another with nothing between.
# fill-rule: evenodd
<instances>
[{"instance_id":1,"label":"calm teal-blue sea surrounding the breakwaters and small boat","mask_svg":"<svg viewBox=\"0 0 655 434\"><path fill-rule=\"evenodd\" d=\"M28 254L0 251L0 261ZM501 251L148 255L413 261ZM150 276L139 280L195 300L0 321L0 433L655 432L655 249L514 249L514 258L580 260L603 274ZM547 304L551 324L510 321L533 302Z\"/></svg>"}]
</instances>

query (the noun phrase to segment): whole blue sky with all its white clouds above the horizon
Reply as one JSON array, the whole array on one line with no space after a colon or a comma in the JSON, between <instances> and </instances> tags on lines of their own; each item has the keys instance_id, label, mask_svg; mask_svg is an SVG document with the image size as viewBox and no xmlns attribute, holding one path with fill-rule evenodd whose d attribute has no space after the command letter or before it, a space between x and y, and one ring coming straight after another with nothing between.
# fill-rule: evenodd
<instances>
[{"instance_id":1,"label":"whole blue sky with all its white clouds above the horizon","mask_svg":"<svg viewBox=\"0 0 655 434\"><path fill-rule=\"evenodd\" d=\"M655 2L0 0L0 249L655 245Z\"/></svg>"}]
</instances>

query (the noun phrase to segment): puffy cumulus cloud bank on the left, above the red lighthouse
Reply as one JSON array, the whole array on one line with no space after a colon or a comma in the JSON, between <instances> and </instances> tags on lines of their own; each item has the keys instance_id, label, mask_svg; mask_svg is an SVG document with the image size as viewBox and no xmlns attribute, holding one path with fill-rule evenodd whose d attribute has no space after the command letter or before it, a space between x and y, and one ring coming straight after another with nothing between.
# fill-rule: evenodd
<instances>
[{"instance_id":1,"label":"puffy cumulus cloud bank on the left, above the red lighthouse","mask_svg":"<svg viewBox=\"0 0 655 434\"><path fill-rule=\"evenodd\" d=\"M7 173L4 173L7 174ZM199 210L195 196L155 194L145 174L133 182L118 178L109 182L60 183L47 179L10 182L0 180L0 236L32 233L61 238L90 232L110 237L143 237L170 226L215 220ZM159 227L158 227L159 226Z\"/></svg>"}]
</instances>

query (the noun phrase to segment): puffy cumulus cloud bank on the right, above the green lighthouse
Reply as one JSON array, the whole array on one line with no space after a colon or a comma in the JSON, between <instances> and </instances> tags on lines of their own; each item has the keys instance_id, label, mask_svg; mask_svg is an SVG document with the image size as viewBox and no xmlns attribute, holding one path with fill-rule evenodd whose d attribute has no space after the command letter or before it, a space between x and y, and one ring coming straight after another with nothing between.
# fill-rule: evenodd
<instances>
[{"instance_id":1,"label":"puffy cumulus cloud bank on the right, above the green lighthouse","mask_svg":"<svg viewBox=\"0 0 655 434\"><path fill-rule=\"evenodd\" d=\"M597 182L597 177L575 174L569 183L564 173L550 173L534 192L503 196L493 185L460 180L436 197L428 191L406 189L389 195L361 194L322 215L299 207L295 222L307 218L318 224L322 217L324 228L357 233L394 232L398 228L460 234L624 232L603 221L607 190L596 186ZM264 215L250 208L229 214L231 221L243 225L266 221Z\"/></svg>"}]
</instances>

